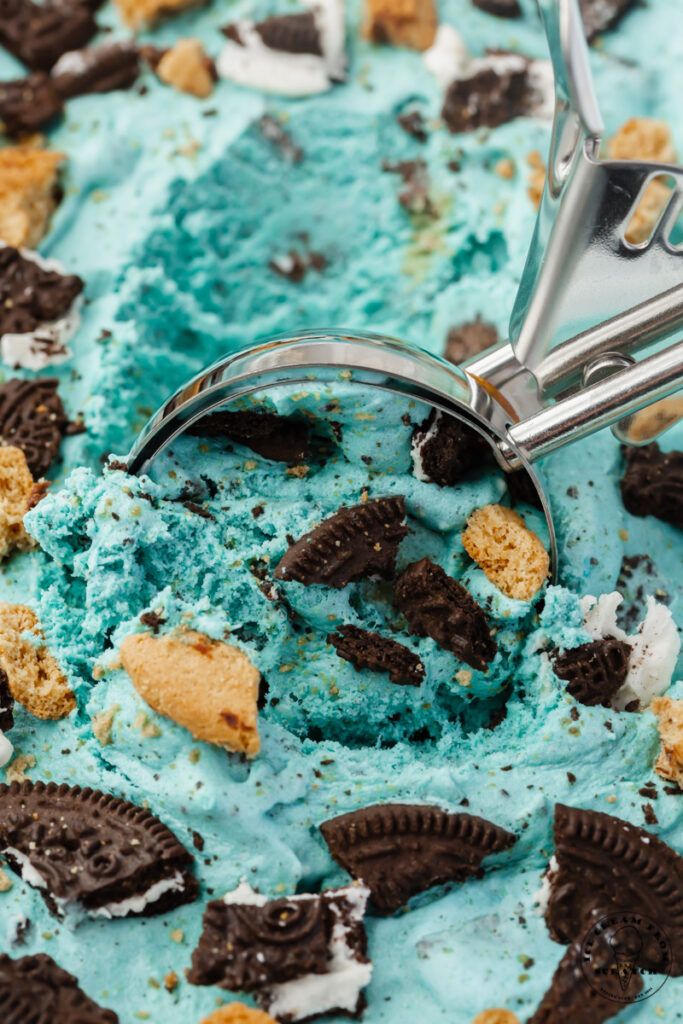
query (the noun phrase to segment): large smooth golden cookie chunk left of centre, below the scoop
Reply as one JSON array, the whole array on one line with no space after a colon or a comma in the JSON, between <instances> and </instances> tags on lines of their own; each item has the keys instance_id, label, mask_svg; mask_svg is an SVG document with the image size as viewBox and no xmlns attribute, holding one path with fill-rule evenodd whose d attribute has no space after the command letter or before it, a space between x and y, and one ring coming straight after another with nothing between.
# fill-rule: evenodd
<instances>
[{"instance_id":1,"label":"large smooth golden cookie chunk left of centre, below the scoop","mask_svg":"<svg viewBox=\"0 0 683 1024\"><path fill-rule=\"evenodd\" d=\"M260 674L243 651L203 633L135 633L121 644L121 659L155 711L197 739L258 754Z\"/></svg>"}]
</instances>

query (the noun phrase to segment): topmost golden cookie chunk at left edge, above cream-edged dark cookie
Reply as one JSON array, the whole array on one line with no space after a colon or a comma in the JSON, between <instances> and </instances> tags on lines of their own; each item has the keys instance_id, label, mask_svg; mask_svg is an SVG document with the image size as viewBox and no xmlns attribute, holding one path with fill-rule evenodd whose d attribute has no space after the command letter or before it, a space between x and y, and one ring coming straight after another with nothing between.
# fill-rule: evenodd
<instances>
[{"instance_id":1,"label":"topmost golden cookie chunk at left edge, above cream-edged dark cookie","mask_svg":"<svg viewBox=\"0 0 683 1024\"><path fill-rule=\"evenodd\" d=\"M0 148L0 241L34 249L57 206L63 154L29 145Z\"/></svg>"}]
</instances>

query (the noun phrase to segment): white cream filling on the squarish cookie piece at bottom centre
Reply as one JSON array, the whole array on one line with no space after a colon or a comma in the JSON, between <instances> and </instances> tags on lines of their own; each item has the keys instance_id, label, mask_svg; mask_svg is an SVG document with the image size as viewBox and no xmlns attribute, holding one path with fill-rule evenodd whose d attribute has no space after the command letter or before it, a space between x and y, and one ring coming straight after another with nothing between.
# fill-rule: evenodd
<instances>
[{"instance_id":1,"label":"white cream filling on the squarish cookie piece at bottom centre","mask_svg":"<svg viewBox=\"0 0 683 1024\"><path fill-rule=\"evenodd\" d=\"M335 924L328 946L329 961L326 974L306 974L280 985L268 985L263 990L267 1012L276 1019L298 1021L332 1010L353 1013L361 989L369 984L373 965L356 958L348 944L349 927L359 924L366 912L370 890L362 884L322 893L319 897L302 894L289 896L298 900L327 899L335 916ZM267 897L255 893L243 879L237 889L226 893L224 903L263 906ZM342 907L339 903L343 903Z\"/></svg>"}]
</instances>

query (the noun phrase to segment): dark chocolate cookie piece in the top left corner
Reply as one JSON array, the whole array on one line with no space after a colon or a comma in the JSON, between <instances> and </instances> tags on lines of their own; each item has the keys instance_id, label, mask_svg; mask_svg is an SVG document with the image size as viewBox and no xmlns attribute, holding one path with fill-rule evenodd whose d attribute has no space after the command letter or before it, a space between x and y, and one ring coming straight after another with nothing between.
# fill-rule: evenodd
<instances>
[{"instance_id":1,"label":"dark chocolate cookie piece in the top left corner","mask_svg":"<svg viewBox=\"0 0 683 1024\"><path fill-rule=\"evenodd\" d=\"M89 43L97 25L78 0L0 0L0 45L35 71Z\"/></svg>"}]
</instances>

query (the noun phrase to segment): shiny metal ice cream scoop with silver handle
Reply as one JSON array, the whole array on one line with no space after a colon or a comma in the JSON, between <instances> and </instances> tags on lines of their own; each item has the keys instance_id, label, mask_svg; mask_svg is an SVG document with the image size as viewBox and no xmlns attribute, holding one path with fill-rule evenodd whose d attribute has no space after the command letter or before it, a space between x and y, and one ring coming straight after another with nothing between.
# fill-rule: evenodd
<instances>
[{"instance_id":1,"label":"shiny metal ice cream scoop with silver handle","mask_svg":"<svg viewBox=\"0 0 683 1024\"><path fill-rule=\"evenodd\" d=\"M555 75L555 117L541 209L510 319L510 341L455 367L389 338L305 332L231 352L180 388L152 417L128 457L131 472L202 417L280 385L345 382L419 399L466 421L506 470L523 466L555 535L531 464L613 425L646 443L683 415L670 399L655 426L632 417L683 389L683 246L672 238L683 210L683 168L599 159L602 122L578 0L539 0ZM658 176L671 187L646 241L627 238ZM655 350L636 361L635 352Z\"/></svg>"}]
</instances>

